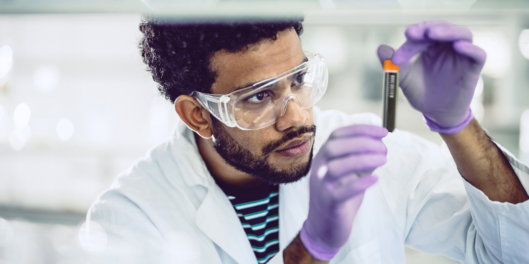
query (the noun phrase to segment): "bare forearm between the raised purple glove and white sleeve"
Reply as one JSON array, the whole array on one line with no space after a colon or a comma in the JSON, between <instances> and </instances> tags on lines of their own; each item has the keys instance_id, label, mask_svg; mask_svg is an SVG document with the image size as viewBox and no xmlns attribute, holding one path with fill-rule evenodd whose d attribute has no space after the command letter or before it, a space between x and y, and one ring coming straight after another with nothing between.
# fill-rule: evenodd
<instances>
[{"instance_id":1,"label":"bare forearm between the raised purple glove and white sleeve","mask_svg":"<svg viewBox=\"0 0 529 264\"><path fill-rule=\"evenodd\" d=\"M476 119L457 134L440 135L461 175L491 201L516 204L529 199L507 158Z\"/></svg>"}]
</instances>

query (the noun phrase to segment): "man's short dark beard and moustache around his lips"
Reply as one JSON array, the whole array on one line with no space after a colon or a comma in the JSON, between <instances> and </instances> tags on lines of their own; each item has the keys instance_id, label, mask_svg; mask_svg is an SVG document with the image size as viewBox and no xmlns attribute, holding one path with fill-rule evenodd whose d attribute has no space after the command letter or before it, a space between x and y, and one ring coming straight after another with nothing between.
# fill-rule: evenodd
<instances>
[{"instance_id":1,"label":"man's short dark beard and moustache around his lips","mask_svg":"<svg viewBox=\"0 0 529 264\"><path fill-rule=\"evenodd\" d=\"M262 155L255 155L230 136L220 121L214 117L211 119L214 136L213 147L226 164L238 171L252 175L265 183L276 185L297 182L311 170L314 141L308 161L305 163L281 170L270 164L269 158L274 149L300 135L313 133L313 138L315 138L315 125L304 125L296 130L291 130L281 138L272 140L272 142L263 147Z\"/></svg>"}]
</instances>

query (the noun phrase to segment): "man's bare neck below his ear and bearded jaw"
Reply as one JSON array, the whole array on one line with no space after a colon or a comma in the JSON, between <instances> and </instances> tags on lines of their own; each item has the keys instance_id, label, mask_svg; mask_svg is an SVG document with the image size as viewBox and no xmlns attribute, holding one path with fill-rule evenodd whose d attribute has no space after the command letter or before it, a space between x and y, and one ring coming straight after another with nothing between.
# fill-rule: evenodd
<instances>
[{"instance_id":1,"label":"man's bare neck below his ear and bearded jaw","mask_svg":"<svg viewBox=\"0 0 529 264\"><path fill-rule=\"evenodd\" d=\"M234 167L226 164L224 159L218 155L213 147L212 138L203 138L195 133L195 141L200 156L204 159L209 173L211 173L215 180L220 180L226 184L238 187L257 187L265 184L258 178L238 171Z\"/></svg>"}]
</instances>

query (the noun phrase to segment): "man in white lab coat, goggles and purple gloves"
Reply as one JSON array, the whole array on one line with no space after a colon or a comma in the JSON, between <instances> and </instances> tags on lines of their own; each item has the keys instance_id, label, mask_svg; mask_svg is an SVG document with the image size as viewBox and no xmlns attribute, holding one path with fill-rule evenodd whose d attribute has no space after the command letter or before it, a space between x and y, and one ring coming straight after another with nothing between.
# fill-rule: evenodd
<instances>
[{"instance_id":1,"label":"man in white lab coat, goggles and purple gloves","mask_svg":"<svg viewBox=\"0 0 529 264\"><path fill-rule=\"evenodd\" d=\"M407 245L465 263L529 262L529 169L473 119L485 53L470 31L428 21L408 27L396 52L378 49L400 65L404 95L455 167L424 139L388 135L372 114L313 107L327 71L303 51L302 29L145 18L144 62L182 122L90 208L105 256L404 263Z\"/></svg>"}]
</instances>

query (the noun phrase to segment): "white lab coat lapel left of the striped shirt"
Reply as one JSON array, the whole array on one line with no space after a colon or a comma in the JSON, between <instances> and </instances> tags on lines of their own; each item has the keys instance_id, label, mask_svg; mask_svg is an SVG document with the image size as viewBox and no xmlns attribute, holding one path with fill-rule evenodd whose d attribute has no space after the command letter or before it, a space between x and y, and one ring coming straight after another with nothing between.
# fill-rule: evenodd
<instances>
[{"instance_id":1,"label":"white lab coat lapel left of the striped shirt","mask_svg":"<svg viewBox=\"0 0 529 264\"><path fill-rule=\"evenodd\" d=\"M195 224L239 264L257 264L232 204L214 182L209 182L208 193L195 215Z\"/></svg>"}]
</instances>

